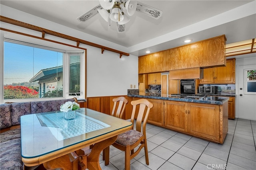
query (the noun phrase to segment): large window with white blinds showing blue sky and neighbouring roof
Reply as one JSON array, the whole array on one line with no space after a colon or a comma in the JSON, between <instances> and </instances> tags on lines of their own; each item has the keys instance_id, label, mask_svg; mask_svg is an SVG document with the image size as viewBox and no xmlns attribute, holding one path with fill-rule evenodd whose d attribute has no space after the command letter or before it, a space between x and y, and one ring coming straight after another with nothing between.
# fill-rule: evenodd
<instances>
[{"instance_id":1,"label":"large window with white blinds showing blue sky and neighbouring roof","mask_svg":"<svg viewBox=\"0 0 256 170\"><path fill-rule=\"evenodd\" d=\"M81 52L5 39L1 97L19 100L81 96L81 61Z\"/></svg>"}]
</instances>

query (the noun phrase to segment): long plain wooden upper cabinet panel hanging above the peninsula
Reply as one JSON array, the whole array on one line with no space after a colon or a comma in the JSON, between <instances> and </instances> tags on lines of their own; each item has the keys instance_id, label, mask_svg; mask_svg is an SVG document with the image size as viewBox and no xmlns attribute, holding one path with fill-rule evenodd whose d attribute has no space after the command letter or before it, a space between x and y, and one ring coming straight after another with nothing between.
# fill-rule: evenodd
<instances>
[{"instance_id":1,"label":"long plain wooden upper cabinet panel hanging above the peninsula","mask_svg":"<svg viewBox=\"0 0 256 170\"><path fill-rule=\"evenodd\" d=\"M165 72L186 68L225 66L226 37L221 35L138 58L138 72Z\"/></svg>"}]
</instances>

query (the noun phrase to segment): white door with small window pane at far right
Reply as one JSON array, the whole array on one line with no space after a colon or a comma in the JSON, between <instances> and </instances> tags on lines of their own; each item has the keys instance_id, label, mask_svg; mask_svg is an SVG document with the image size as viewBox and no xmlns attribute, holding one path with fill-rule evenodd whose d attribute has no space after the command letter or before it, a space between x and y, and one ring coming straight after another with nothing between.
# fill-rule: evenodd
<instances>
[{"instance_id":1,"label":"white door with small window pane at far right","mask_svg":"<svg viewBox=\"0 0 256 170\"><path fill-rule=\"evenodd\" d=\"M256 64L238 66L237 111L239 118L256 120L256 80L248 80L250 70Z\"/></svg>"}]
</instances>

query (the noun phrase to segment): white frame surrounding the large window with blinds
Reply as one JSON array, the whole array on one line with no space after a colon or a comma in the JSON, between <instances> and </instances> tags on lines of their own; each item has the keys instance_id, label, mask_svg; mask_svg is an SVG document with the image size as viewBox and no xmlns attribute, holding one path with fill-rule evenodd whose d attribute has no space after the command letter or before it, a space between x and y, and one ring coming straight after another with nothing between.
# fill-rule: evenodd
<instances>
[{"instance_id":1,"label":"white frame surrounding the large window with blinds","mask_svg":"<svg viewBox=\"0 0 256 170\"><path fill-rule=\"evenodd\" d=\"M32 39L35 40L35 39ZM1 42L2 44L4 44L4 41L10 41L12 43L20 43L22 45L30 45L33 47L37 47L37 48L42 48L42 49L48 49L48 50L53 50L53 51L58 51L58 52L62 52L63 53L63 97L53 97L53 98L25 98L25 99L4 99L4 84L3 84L3 80L4 80L4 53L1 53L1 82L0 86L1 86L1 95L0 95L0 103L3 102L30 102L30 101L44 101L44 100L60 100L60 99L68 99L68 98L86 98L86 49L82 50L82 49L76 49L76 50L70 50L70 48L66 45L61 45L58 43L53 43L52 47L47 47L44 45L40 45L40 43L35 44L35 43L31 43L30 41L28 42L23 42L23 41L19 41L19 40L14 40L14 39L8 39L8 38L3 38L1 37ZM55 48L56 47L56 48ZM62 49L60 49L60 47ZM1 46L1 49L4 50L4 45ZM1 50L1 51L3 51ZM67 66L69 63L67 63L67 61L69 61L67 59L68 54L72 54L72 53L76 53L76 54L80 54L80 91L82 91L82 94L80 96L69 96L68 93L66 93L66 91L69 91L69 87L67 84L69 84L69 82L66 82L66 74L67 74Z\"/></svg>"}]
</instances>

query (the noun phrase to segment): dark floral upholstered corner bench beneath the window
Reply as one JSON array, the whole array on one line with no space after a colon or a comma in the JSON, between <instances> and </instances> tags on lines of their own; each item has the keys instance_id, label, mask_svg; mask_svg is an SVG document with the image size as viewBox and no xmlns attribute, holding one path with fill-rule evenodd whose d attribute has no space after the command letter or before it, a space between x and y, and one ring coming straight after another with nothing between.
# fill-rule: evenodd
<instances>
[{"instance_id":1,"label":"dark floral upholstered corner bench beneath the window","mask_svg":"<svg viewBox=\"0 0 256 170\"><path fill-rule=\"evenodd\" d=\"M26 167L23 166L21 159L19 125L22 115L59 111L62 104L67 101L74 102L75 99L0 104L0 170L23 170ZM32 170L36 167L29 167L29 169Z\"/></svg>"}]
</instances>

